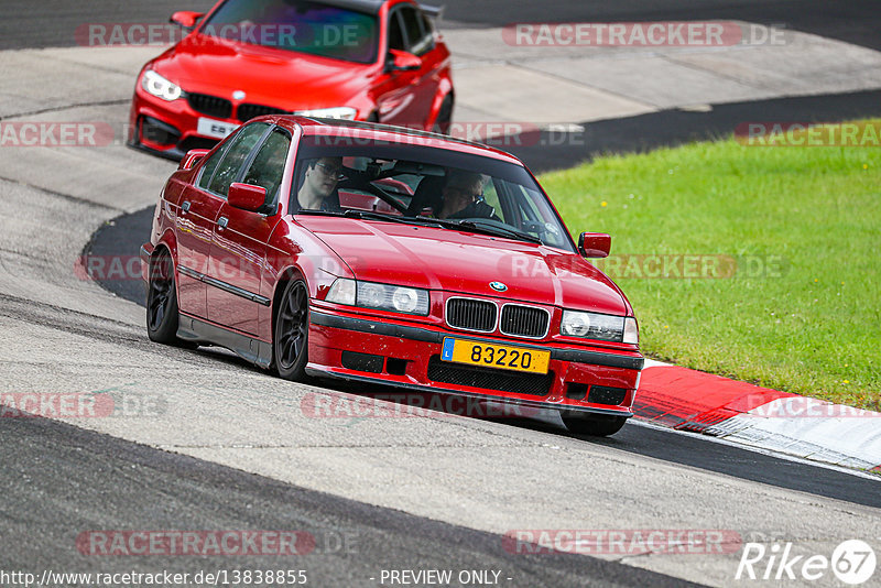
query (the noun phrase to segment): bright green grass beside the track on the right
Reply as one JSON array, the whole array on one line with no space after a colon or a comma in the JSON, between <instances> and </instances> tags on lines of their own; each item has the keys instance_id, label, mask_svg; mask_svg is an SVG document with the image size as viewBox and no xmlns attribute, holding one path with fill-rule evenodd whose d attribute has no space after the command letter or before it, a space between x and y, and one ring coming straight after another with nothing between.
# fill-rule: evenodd
<instances>
[{"instance_id":1,"label":"bright green grass beside the track on the right","mask_svg":"<svg viewBox=\"0 0 881 588\"><path fill-rule=\"evenodd\" d=\"M609 270L649 357L879 409L881 149L728 140L603 156L541 182L573 232L612 235L612 255L739 262L721 279Z\"/></svg>"}]
</instances>

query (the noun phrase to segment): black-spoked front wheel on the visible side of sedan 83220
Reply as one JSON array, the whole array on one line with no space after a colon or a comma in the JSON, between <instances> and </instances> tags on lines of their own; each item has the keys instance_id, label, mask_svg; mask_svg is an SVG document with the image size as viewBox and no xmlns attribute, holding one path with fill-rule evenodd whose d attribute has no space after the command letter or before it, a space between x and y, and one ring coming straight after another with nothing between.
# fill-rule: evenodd
<instances>
[{"instance_id":1,"label":"black-spoked front wheel on the visible side of sedan 83220","mask_svg":"<svg viewBox=\"0 0 881 588\"><path fill-rule=\"evenodd\" d=\"M306 379L309 337L309 295L303 280L289 282L279 301L272 356L275 371L293 381Z\"/></svg>"}]
</instances>

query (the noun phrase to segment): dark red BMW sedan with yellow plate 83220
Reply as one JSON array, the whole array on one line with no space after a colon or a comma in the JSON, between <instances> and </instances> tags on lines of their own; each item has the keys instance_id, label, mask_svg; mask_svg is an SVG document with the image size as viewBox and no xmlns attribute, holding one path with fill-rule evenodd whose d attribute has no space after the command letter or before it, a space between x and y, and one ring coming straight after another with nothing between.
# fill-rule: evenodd
<instances>
[{"instance_id":1,"label":"dark red BMW sedan with yellow plate 83220","mask_svg":"<svg viewBox=\"0 0 881 588\"><path fill-rule=\"evenodd\" d=\"M610 435L643 358L633 309L529 170L423 131L261 117L165 185L141 249L146 324L282 378L559 411Z\"/></svg>"}]
</instances>

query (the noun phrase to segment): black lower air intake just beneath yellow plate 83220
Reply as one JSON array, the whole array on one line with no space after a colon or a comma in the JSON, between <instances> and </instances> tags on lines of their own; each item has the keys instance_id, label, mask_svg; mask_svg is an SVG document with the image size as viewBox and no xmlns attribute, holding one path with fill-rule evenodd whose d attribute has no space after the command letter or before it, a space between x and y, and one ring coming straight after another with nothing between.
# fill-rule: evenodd
<instances>
[{"instance_id":1,"label":"black lower air intake just beneath yellow plate 83220","mask_svg":"<svg viewBox=\"0 0 881 588\"><path fill-rule=\"evenodd\" d=\"M514 394L546 396L551 392L554 372L518 373L486 368L470 368L443 361L440 356L428 360L428 379L434 382L499 390Z\"/></svg>"}]
</instances>

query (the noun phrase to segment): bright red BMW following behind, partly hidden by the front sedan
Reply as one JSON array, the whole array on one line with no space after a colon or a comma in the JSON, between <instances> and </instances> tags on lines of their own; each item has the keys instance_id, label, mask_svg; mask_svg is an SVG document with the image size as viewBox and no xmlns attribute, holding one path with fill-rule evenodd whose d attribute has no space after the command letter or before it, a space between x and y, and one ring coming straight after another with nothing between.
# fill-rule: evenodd
<instances>
[{"instance_id":1,"label":"bright red BMW following behind, partly hidden by the front sedan","mask_svg":"<svg viewBox=\"0 0 881 588\"><path fill-rule=\"evenodd\" d=\"M449 51L411 0L224 0L138 76L129 144L180 160L274 113L447 132Z\"/></svg>"}]
</instances>

